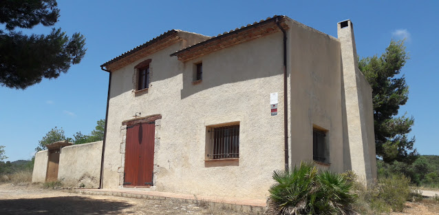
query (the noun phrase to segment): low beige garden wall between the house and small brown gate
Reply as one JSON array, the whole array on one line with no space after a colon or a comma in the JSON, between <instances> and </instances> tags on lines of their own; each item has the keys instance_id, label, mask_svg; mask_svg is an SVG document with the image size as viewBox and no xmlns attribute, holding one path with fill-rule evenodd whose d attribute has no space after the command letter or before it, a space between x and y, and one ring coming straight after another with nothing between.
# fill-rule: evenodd
<instances>
[{"instance_id":1,"label":"low beige garden wall between the house and small brown gate","mask_svg":"<svg viewBox=\"0 0 439 215\"><path fill-rule=\"evenodd\" d=\"M66 185L98 187L103 141L69 145L61 149L58 180Z\"/></svg>"}]
</instances>

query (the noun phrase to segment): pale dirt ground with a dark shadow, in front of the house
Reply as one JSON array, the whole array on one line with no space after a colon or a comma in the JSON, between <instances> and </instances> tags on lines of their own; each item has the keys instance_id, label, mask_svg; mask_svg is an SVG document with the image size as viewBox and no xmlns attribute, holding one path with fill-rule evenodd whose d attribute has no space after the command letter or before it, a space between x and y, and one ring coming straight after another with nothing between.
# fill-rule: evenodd
<instances>
[{"instance_id":1,"label":"pale dirt ground with a dark shadow, in front of the house","mask_svg":"<svg viewBox=\"0 0 439 215\"><path fill-rule=\"evenodd\" d=\"M83 195L38 185L0 185L0 214L243 214L177 200Z\"/></svg>"}]
</instances>

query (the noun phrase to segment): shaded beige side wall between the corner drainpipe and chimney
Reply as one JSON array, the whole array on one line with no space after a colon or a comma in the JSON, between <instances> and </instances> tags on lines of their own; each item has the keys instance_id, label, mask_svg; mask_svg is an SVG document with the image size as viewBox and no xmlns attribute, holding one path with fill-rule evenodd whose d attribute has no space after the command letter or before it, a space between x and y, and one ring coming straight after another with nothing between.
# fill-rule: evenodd
<instances>
[{"instance_id":1,"label":"shaded beige side wall between the corner drainpipe and chimney","mask_svg":"<svg viewBox=\"0 0 439 215\"><path fill-rule=\"evenodd\" d=\"M329 167L343 172L341 59L338 39L290 23L291 161L312 161L313 126L328 130ZM322 166L324 167L324 166Z\"/></svg>"}]
</instances>

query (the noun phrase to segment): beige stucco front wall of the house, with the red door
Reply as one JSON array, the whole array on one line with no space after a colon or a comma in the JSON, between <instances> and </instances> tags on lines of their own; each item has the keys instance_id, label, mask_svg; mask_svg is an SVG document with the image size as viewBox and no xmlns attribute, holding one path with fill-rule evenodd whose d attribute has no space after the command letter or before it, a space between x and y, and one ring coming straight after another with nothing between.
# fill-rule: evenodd
<instances>
[{"instance_id":1,"label":"beige stucco front wall of the house, with the red door","mask_svg":"<svg viewBox=\"0 0 439 215\"><path fill-rule=\"evenodd\" d=\"M133 66L112 72L105 147L104 187L120 185L122 121L162 114L156 145L156 190L187 194L265 198L272 171L283 168L282 34L235 45L182 63L169 54L175 44L151 54L151 88L135 96ZM202 61L203 81L192 84L193 63ZM264 63L260 63L264 62ZM278 115L270 93L279 93ZM239 164L206 163L206 126L239 121ZM158 148L157 148L158 147Z\"/></svg>"}]
</instances>

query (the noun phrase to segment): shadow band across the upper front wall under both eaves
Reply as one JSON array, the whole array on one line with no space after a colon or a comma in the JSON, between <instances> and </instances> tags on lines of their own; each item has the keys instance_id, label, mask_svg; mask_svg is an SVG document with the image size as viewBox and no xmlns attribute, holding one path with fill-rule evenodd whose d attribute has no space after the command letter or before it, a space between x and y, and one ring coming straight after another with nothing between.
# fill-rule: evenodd
<instances>
[{"instance_id":1,"label":"shadow band across the upper front wall under both eaves","mask_svg":"<svg viewBox=\"0 0 439 215\"><path fill-rule=\"evenodd\" d=\"M277 32L186 62L178 61L177 57L169 56L175 51L172 48L180 48L180 43L176 43L177 45L149 56L153 66L151 69L151 90L180 87L180 85L160 85L158 82L183 74L183 88L180 90L181 98L184 99L219 85L283 74L281 35L280 32ZM203 81L193 85L193 66L197 62L203 63ZM127 68L131 66L131 64L127 65L120 69L121 71L112 74L110 98L133 90L134 68L133 66ZM263 84L261 81L261 85ZM162 89L157 91L162 91ZM148 93L139 92L136 96Z\"/></svg>"}]
</instances>

